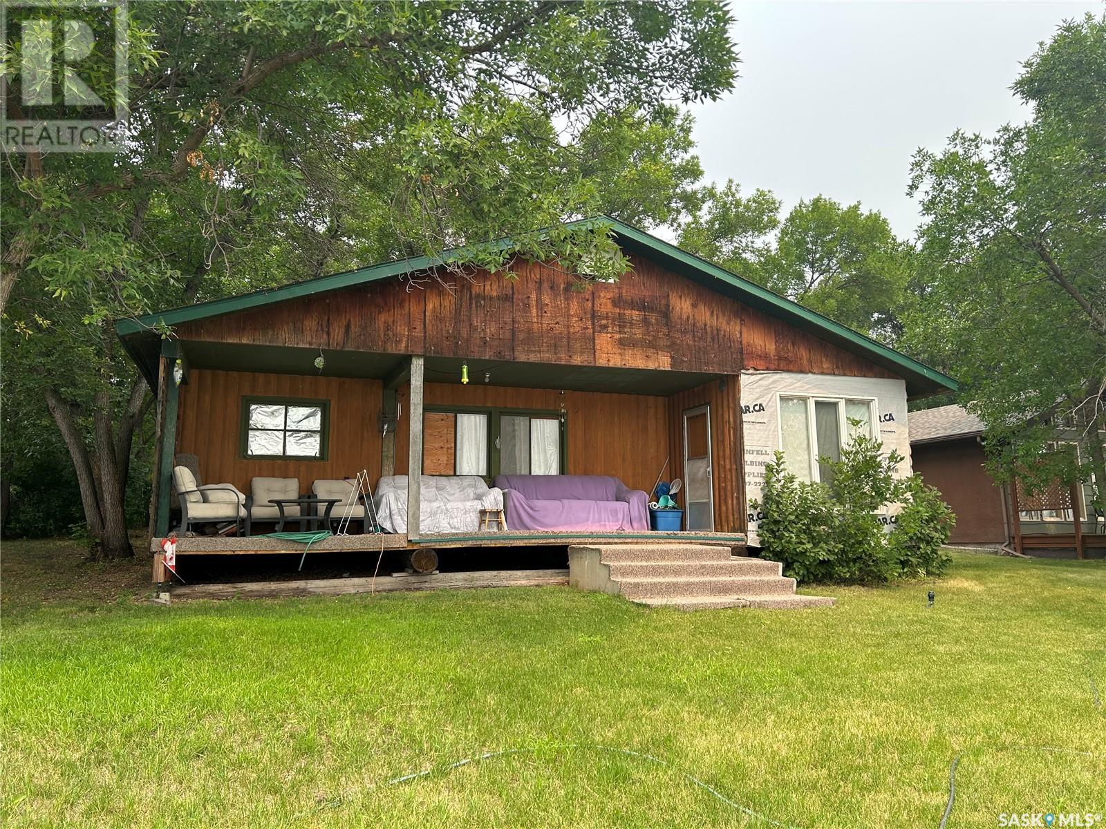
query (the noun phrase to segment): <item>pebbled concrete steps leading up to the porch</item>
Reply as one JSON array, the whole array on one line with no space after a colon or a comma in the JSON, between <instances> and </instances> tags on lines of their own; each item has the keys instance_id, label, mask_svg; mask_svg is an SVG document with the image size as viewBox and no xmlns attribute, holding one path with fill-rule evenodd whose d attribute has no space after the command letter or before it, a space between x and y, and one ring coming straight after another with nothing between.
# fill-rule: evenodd
<instances>
[{"instance_id":1,"label":"pebbled concrete steps leading up to the porch","mask_svg":"<svg viewBox=\"0 0 1106 829\"><path fill-rule=\"evenodd\" d=\"M779 562L733 556L708 544L601 544L568 548L568 584L681 610L794 609L833 605L799 596Z\"/></svg>"}]
</instances>

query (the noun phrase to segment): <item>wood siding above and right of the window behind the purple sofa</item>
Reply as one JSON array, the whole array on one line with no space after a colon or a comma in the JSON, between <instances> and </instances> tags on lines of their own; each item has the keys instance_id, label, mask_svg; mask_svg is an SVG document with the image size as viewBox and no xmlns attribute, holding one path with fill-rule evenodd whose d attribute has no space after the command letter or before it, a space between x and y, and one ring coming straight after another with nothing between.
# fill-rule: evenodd
<instances>
[{"instance_id":1,"label":"wood siding above and right of the window behind the purple sofa","mask_svg":"<svg viewBox=\"0 0 1106 829\"><path fill-rule=\"evenodd\" d=\"M407 389L397 395L407 411ZM668 454L668 400L647 395L520 389L471 384L428 382L425 406L484 406L504 409L565 408L568 451L565 473L615 475L634 490L648 491ZM396 474L407 472L410 420L401 413L396 426Z\"/></svg>"}]
</instances>

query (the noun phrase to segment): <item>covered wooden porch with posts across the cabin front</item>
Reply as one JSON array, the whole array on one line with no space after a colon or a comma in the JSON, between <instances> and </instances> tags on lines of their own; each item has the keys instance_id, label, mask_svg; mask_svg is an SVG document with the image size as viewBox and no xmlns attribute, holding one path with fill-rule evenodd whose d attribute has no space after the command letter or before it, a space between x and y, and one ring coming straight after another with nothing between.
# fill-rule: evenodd
<instances>
[{"instance_id":1,"label":"covered wooden porch with posts across the cabin front","mask_svg":"<svg viewBox=\"0 0 1106 829\"><path fill-rule=\"evenodd\" d=\"M181 454L196 457L204 483L228 483L243 493L264 476L294 479L300 493L310 493L319 480L352 479L363 470L373 492L382 478L407 475L404 532L341 528L312 543L312 556L356 550L414 562L424 550L447 555L466 547L744 544L737 375L188 339L157 342L152 353L153 345L136 357L152 360L158 377L160 452L150 542L156 581L165 576L157 558L160 539L178 525L171 470ZM254 400L317 403L325 422L319 424L317 447L310 447L315 457L251 452L247 407ZM479 421L480 428L463 431L459 422L467 420ZM520 427L535 433L533 459L505 445L509 431ZM555 457L536 457L542 454L539 431L542 445L555 444ZM484 442L476 449L462 445L473 436ZM521 444L529 445L526 440ZM520 466L525 463L533 468ZM649 500L658 479L685 478L680 529L420 529L420 475L479 474L491 482L500 472L608 475L649 493ZM251 535L180 534L176 552L302 556L302 544L268 537L272 528L261 523Z\"/></svg>"}]
</instances>

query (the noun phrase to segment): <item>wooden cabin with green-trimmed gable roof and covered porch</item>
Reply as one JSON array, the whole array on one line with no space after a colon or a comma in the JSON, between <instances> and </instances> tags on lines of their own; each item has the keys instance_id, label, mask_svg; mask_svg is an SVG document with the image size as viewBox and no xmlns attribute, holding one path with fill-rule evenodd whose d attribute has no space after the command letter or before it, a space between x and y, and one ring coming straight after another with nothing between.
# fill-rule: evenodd
<instances>
[{"instance_id":1,"label":"wooden cabin with green-trimmed gable roof and covered porch","mask_svg":"<svg viewBox=\"0 0 1106 829\"><path fill-rule=\"evenodd\" d=\"M499 445L508 424L530 423L556 436L544 471L612 475L646 492L658 478L680 478L679 532L742 545L755 531L748 501L759 492L758 471L775 449L816 480L818 455L839 448L847 418L860 412L909 455L907 400L956 388L845 326L612 224L633 267L583 291L573 274L539 263L513 265L517 279L446 277L446 287L411 279L436 266L419 258L121 321L118 334L158 398L156 536L170 529L170 468L180 454L198 459L204 481L242 492L259 476L298 479L307 492L313 480L362 470L374 486L410 474L408 514L417 515L416 473L459 469L473 450L457 444L458 418L480 414L486 444L476 451L488 480L505 463ZM160 336L163 326L171 337ZM251 401L321 410L314 455L251 453ZM426 538L417 525L387 544L564 544L587 535ZM279 547L271 541L181 538L179 552ZM364 548L380 543L366 536Z\"/></svg>"}]
</instances>

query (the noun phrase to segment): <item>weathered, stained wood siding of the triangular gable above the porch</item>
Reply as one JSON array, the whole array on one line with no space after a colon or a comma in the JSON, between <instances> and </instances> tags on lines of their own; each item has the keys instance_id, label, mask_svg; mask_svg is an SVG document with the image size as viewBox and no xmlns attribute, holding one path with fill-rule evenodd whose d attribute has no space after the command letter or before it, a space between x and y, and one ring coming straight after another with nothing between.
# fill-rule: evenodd
<instances>
[{"instance_id":1,"label":"weathered, stained wood siding of the triangular gable above the porch","mask_svg":"<svg viewBox=\"0 0 1106 829\"><path fill-rule=\"evenodd\" d=\"M744 368L893 377L640 258L586 291L559 269L478 273L453 291L396 277L186 323L181 339L735 375Z\"/></svg>"}]
</instances>

